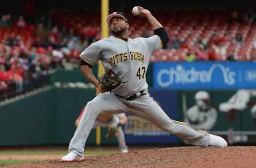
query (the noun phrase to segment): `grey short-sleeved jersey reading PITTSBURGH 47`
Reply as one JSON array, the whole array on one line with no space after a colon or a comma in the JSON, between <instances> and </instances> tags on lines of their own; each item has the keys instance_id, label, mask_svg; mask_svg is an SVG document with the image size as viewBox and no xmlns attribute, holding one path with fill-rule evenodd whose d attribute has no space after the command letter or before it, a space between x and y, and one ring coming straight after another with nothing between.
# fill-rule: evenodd
<instances>
[{"instance_id":1,"label":"grey short-sleeved jersey reading PITTSBURGH 47","mask_svg":"<svg viewBox=\"0 0 256 168\"><path fill-rule=\"evenodd\" d=\"M101 60L105 70L111 69L122 81L127 81L116 88L115 93L128 96L148 88L146 71L150 55L161 47L162 41L157 35L149 38L129 38L127 42L110 36L92 43L80 57L90 65Z\"/></svg>"}]
</instances>

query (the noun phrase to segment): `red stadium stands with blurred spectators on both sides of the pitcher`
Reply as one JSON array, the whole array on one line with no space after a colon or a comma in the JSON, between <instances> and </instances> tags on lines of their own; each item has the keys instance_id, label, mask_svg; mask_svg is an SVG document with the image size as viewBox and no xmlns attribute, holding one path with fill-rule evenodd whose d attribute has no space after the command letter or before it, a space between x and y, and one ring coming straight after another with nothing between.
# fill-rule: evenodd
<instances>
[{"instance_id":1,"label":"red stadium stands with blurred spectators on both sides of the pitcher","mask_svg":"<svg viewBox=\"0 0 256 168\"><path fill-rule=\"evenodd\" d=\"M0 17L0 95L10 90L23 93L26 84L56 69L77 69L79 53L101 39L100 18L95 12L57 10L52 15L56 25L50 28L40 22L27 22L22 15L14 18L3 14ZM167 49L153 53L150 61L256 60L253 10L243 15L234 11L223 17L218 12L207 12L205 16L193 13L191 18L184 17L182 14L188 13L182 11L157 13L170 41ZM165 17L166 13L170 13L171 20ZM154 34L149 24L132 17L129 16L131 38Z\"/></svg>"}]
</instances>

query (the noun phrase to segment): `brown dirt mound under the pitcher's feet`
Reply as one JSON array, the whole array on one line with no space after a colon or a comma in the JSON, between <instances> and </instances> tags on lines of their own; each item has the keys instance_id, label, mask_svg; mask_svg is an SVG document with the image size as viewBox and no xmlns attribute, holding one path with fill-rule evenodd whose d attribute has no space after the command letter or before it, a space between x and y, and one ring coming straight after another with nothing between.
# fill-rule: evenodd
<instances>
[{"instance_id":1,"label":"brown dirt mound under the pitcher's feet","mask_svg":"<svg viewBox=\"0 0 256 168\"><path fill-rule=\"evenodd\" d=\"M256 147L174 147L86 156L84 162L48 159L2 167L256 167L255 156Z\"/></svg>"}]
</instances>

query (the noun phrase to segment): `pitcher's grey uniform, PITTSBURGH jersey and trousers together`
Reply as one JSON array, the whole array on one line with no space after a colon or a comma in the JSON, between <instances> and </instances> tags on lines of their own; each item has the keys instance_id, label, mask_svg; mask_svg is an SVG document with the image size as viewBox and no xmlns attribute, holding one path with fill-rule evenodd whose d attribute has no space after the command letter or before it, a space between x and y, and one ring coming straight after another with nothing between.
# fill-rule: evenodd
<instances>
[{"instance_id":1,"label":"pitcher's grey uniform, PITTSBURGH jersey and trousers together","mask_svg":"<svg viewBox=\"0 0 256 168\"><path fill-rule=\"evenodd\" d=\"M127 42L111 36L91 44L80 57L90 65L102 60L105 69L113 70L122 81L127 81L115 90L116 94L124 97L148 88L146 71L150 55L161 47L162 41L157 35L149 38L129 38ZM162 130L182 138L188 144L206 147L210 143L209 133L196 131L186 123L171 120L148 93L126 100L107 92L87 103L86 110L70 141L69 152L83 155L86 139L98 114L123 112L139 116Z\"/></svg>"}]
</instances>

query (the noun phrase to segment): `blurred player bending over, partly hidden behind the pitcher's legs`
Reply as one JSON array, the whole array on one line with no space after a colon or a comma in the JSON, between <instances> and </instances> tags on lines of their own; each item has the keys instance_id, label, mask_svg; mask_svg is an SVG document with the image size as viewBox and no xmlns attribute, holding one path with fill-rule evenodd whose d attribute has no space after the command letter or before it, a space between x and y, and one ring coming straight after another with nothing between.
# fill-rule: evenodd
<instances>
[{"instance_id":1,"label":"blurred player bending over, partly hidden behind the pitcher's legs","mask_svg":"<svg viewBox=\"0 0 256 168\"><path fill-rule=\"evenodd\" d=\"M83 110L81 111L81 113L76 119L76 122L75 122L76 127L78 127L81 117L85 112L85 108L86 106L83 108ZM126 121L127 121L127 117L124 113L120 113L120 114L102 113L97 116L97 119L93 124L93 128L96 128L97 126L109 127L107 138L116 136L120 152L127 153L128 148L126 146L124 131L122 129L122 125L124 125Z\"/></svg>"}]
</instances>

